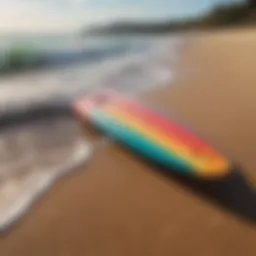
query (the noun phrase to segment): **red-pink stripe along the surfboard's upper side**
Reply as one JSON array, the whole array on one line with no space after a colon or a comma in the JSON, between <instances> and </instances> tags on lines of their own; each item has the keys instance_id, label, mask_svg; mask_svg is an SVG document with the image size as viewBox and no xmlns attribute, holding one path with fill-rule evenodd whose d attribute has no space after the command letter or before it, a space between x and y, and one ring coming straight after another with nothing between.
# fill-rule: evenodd
<instances>
[{"instance_id":1,"label":"red-pink stripe along the surfboard's upper side","mask_svg":"<svg viewBox=\"0 0 256 256\"><path fill-rule=\"evenodd\" d=\"M199 140L196 136L182 129L182 127L170 122L160 114L153 110L147 109L142 105L131 99L124 99L121 97L113 97L111 102L116 103L117 107L121 107L123 110L129 111L132 115L141 118L150 125L155 125L160 128L167 136L175 137L180 142L196 148L197 150L206 152L213 152L213 149L203 141Z\"/></svg>"}]
</instances>

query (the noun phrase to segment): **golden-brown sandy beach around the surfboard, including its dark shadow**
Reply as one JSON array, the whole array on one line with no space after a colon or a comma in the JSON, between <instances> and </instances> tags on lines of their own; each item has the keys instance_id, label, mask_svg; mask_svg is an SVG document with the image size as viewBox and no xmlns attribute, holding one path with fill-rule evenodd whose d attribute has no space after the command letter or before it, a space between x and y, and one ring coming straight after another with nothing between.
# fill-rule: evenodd
<instances>
[{"instance_id":1,"label":"golden-brown sandy beach around the surfboard, including its dark shadow","mask_svg":"<svg viewBox=\"0 0 256 256\"><path fill-rule=\"evenodd\" d=\"M145 95L239 166L187 182L110 145L58 182L5 237L3 256L254 256L256 30L194 35L177 81Z\"/></svg>"}]
</instances>

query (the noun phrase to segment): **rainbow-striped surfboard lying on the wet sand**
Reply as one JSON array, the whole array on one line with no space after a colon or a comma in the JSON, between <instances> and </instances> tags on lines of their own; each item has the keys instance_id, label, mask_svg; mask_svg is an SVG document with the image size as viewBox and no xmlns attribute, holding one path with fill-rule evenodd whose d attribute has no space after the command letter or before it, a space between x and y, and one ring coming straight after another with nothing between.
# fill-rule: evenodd
<instances>
[{"instance_id":1,"label":"rainbow-striped surfboard lying on the wet sand","mask_svg":"<svg viewBox=\"0 0 256 256\"><path fill-rule=\"evenodd\" d=\"M77 100L73 108L97 131L171 170L209 179L230 172L230 162L212 146L134 99L99 92Z\"/></svg>"}]
</instances>

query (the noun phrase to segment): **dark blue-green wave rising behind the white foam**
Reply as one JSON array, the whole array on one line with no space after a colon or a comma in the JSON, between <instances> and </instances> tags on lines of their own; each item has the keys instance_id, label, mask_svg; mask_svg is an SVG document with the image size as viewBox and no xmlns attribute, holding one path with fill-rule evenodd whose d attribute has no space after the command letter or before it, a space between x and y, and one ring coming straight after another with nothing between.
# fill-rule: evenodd
<instances>
[{"instance_id":1,"label":"dark blue-green wave rising behind the white foam","mask_svg":"<svg viewBox=\"0 0 256 256\"><path fill-rule=\"evenodd\" d=\"M99 62L130 52L143 51L145 47L146 45L141 47L140 44L132 42L101 46L85 44L71 49L37 49L30 44L17 44L0 51L0 75Z\"/></svg>"}]
</instances>

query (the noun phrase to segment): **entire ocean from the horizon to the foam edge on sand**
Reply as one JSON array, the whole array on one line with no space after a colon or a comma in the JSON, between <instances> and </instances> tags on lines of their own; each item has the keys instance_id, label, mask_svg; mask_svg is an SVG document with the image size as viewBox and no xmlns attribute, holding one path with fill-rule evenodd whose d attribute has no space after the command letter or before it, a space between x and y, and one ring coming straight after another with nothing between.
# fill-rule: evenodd
<instances>
[{"instance_id":1,"label":"entire ocean from the horizon to the foam edge on sand","mask_svg":"<svg viewBox=\"0 0 256 256\"><path fill-rule=\"evenodd\" d=\"M170 85L184 41L0 37L0 232L106 146L107 140L95 146L82 134L70 103L104 88L141 94Z\"/></svg>"}]
</instances>

